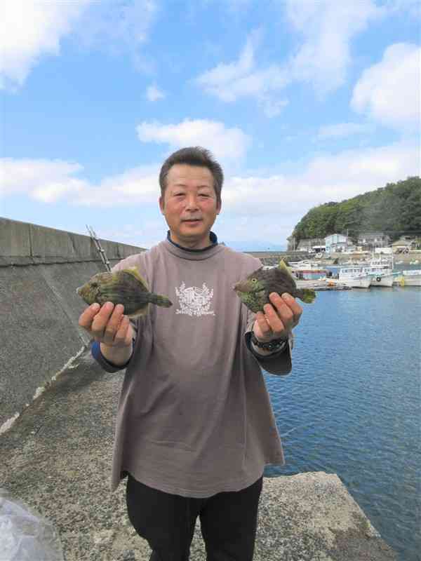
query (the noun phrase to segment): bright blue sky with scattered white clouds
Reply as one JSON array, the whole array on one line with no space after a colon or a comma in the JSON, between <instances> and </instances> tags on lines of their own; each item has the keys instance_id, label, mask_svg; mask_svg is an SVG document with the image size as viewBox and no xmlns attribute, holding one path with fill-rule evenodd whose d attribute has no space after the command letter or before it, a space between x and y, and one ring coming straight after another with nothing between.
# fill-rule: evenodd
<instances>
[{"instance_id":1,"label":"bright blue sky with scattered white clouds","mask_svg":"<svg viewBox=\"0 0 421 561\"><path fill-rule=\"evenodd\" d=\"M0 11L0 216L150 247L159 168L201 145L225 170L220 241L279 248L312 206L420 175L417 1Z\"/></svg>"}]
</instances>

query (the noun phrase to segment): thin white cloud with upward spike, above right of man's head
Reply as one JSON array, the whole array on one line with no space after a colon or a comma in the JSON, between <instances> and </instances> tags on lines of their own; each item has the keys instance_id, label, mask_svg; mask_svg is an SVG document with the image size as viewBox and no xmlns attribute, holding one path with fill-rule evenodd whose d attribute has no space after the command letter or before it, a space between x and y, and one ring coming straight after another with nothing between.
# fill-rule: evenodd
<instances>
[{"instance_id":1,"label":"thin white cloud with upward spike, above right of man's head","mask_svg":"<svg viewBox=\"0 0 421 561\"><path fill-rule=\"evenodd\" d=\"M286 73L278 65L258 69L255 63L255 50L260 41L260 33L248 36L239 59L228 64L221 63L204 72L195 82L207 93L225 102L234 102L240 97L255 97L265 114L276 116L286 105L275 93L288 83Z\"/></svg>"}]
</instances>

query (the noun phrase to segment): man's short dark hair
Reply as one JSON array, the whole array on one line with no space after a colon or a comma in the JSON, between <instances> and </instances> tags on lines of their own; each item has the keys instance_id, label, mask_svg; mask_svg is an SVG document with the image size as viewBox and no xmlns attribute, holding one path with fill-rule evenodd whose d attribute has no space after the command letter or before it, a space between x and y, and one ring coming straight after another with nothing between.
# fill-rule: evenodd
<instances>
[{"instance_id":1,"label":"man's short dark hair","mask_svg":"<svg viewBox=\"0 0 421 561\"><path fill-rule=\"evenodd\" d=\"M201 146L192 146L177 150L164 161L159 173L159 186L161 187L161 196L166 190L166 177L169 170L177 163L185 163L187 165L196 165L198 168L208 168L213 176L213 188L216 193L216 201L221 204L221 189L224 182L224 173L220 164L215 160L213 154L202 148Z\"/></svg>"}]
</instances>

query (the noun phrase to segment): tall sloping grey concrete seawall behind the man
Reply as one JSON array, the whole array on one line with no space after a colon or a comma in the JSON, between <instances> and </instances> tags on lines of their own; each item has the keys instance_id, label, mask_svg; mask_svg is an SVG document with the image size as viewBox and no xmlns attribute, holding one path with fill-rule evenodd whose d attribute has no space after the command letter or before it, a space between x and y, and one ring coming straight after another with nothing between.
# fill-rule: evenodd
<instances>
[{"instance_id":1,"label":"tall sloping grey concrete seawall behind the man","mask_svg":"<svg viewBox=\"0 0 421 561\"><path fill-rule=\"evenodd\" d=\"M111 264L143 250L100 243ZM104 270L90 236L0 218L0 432L88 344L76 288Z\"/></svg>"}]
</instances>

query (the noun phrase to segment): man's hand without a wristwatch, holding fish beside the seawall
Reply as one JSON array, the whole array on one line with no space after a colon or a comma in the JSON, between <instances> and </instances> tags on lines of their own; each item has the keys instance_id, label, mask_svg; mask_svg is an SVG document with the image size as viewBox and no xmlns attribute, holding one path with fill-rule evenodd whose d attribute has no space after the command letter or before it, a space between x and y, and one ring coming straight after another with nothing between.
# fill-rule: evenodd
<instances>
[{"instance_id":1,"label":"man's hand without a wristwatch, holding fish beside the seawall","mask_svg":"<svg viewBox=\"0 0 421 561\"><path fill-rule=\"evenodd\" d=\"M131 346L133 338L133 327L128 316L124 316L124 306L112 302L91 304L81 316L79 325L86 330L95 341L99 341L109 347L123 349Z\"/></svg>"}]
</instances>

